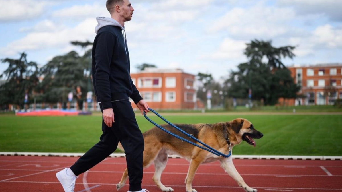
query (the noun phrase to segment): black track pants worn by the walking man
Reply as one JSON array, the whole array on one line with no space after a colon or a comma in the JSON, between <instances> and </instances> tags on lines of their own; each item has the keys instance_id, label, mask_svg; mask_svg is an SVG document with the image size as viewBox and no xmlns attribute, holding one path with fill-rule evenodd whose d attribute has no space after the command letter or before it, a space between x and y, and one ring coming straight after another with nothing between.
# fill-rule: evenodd
<instances>
[{"instance_id":1,"label":"black track pants worn by the walking man","mask_svg":"<svg viewBox=\"0 0 342 192\"><path fill-rule=\"evenodd\" d=\"M102 118L100 141L81 156L70 169L75 175L86 172L113 153L120 141L125 150L129 176L129 190L140 191L143 178L144 138L136 123L131 102L127 100L112 102L114 120L108 127ZM102 105L100 104L101 111Z\"/></svg>"}]
</instances>

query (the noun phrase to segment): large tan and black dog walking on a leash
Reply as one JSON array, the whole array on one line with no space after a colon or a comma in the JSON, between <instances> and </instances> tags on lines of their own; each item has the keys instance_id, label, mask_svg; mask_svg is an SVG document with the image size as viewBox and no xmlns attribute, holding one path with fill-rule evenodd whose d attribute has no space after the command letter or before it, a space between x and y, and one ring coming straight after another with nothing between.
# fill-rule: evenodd
<instances>
[{"instance_id":1,"label":"large tan and black dog walking on a leash","mask_svg":"<svg viewBox=\"0 0 342 192\"><path fill-rule=\"evenodd\" d=\"M206 143L210 147L228 154L235 145L246 141L249 145L255 147L255 139L263 137L263 134L257 131L253 124L246 119L234 119L229 122L221 122L215 124L175 124L188 134ZM171 125L162 125L168 131L186 138L198 145L197 141L189 138ZM161 181L161 173L166 167L168 155L179 155L190 162L188 173L185 179L186 192L197 192L192 188L191 183L195 177L197 168L202 163L210 163L220 161L221 167L231 176L237 184L247 192L257 192L258 190L248 187L244 179L237 172L232 156L228 158L215 155L211 152L203 150L199 147L191 145L181 139L173 137L158 127L154 127L143 133L145 141L145 149L143 154L143 167L147 168L152 163L155 166L153 181L161 191L172 192L173 189L165 187ZM201 145L202 146L202 145ZM119 149L123 150L119 143ZM116 185L117 190L122 188L128 179L127 168L124 171L121 181Z\"/></svg>"}]
</instances>

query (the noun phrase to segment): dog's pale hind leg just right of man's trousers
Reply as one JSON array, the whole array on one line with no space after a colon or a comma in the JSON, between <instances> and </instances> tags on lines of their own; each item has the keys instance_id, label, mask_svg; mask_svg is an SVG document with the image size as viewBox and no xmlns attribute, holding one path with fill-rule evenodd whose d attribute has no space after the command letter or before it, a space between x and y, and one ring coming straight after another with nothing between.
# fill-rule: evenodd
<instances>
[{"instance_id":1,"label":"dog's pale hind leg just right of man's trousers","mask_svg":"<svg viewBox=\"0 0 342 192\"><path fill-rule=\"evenodd\" d=\"M157 187L161 189L161 191L171 192L173 191L173 189L171 187L165 187L160 181L161 173L165 169L167 162L168 154L165 153L165 151L161 150L157 155L156 159L154 160L155 172L152 179L156 183Z\"/></svg>"}]
</instances>

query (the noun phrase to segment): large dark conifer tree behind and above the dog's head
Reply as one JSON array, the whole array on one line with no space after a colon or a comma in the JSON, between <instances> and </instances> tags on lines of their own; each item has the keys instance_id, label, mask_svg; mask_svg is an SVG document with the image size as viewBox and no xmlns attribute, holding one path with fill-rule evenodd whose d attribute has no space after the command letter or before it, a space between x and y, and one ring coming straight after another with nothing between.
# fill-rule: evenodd
<instances>
[{"instance_id":1,"label":"large dark conifer tree behind and above the dog's head","mask_svg":"<svg viewBox=\"0 0 342 192\"><path fill-rule=\"evenodd\" d=\"M293 58L294 46L273 47L271 41L254 40L247 43L244 54L249 61L232 71L225 81L229 96L251 97L274 105L280 97L295 98L300 87L295 85L290 71L281 58Z\"/></svg>"}]
</instances>

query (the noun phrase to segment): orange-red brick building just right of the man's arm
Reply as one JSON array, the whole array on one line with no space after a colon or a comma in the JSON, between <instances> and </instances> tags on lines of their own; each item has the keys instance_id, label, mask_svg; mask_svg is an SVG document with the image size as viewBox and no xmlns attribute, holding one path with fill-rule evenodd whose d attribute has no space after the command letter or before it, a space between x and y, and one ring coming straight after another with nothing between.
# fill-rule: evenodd
<instances>
[{"instance_id":1,"label":"orange-red brick building just right of the man's arm","mask_svg":"<svg viewBox=\"0 0 342 192\"><path fill-rule=\"evenodd\" d=\"M182 69L145 68L138 73L131 73L131 78L140 95L152 109L196 108L193 74L185 73Z\"/></svg>"}]
</instances>

